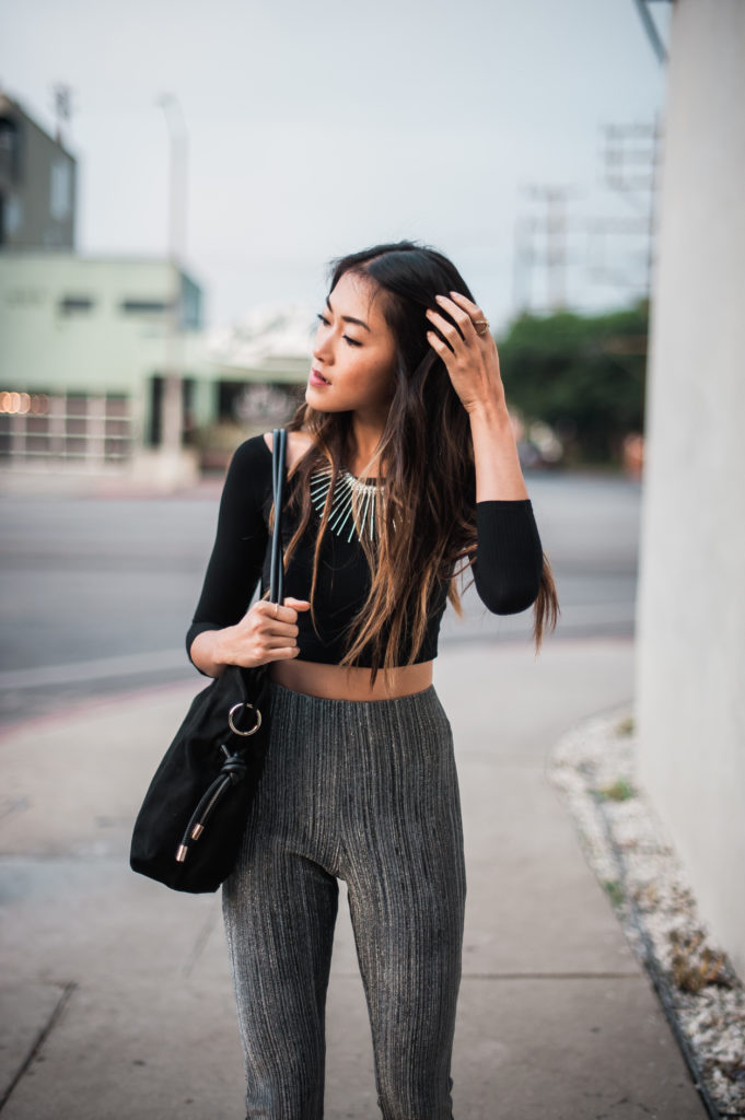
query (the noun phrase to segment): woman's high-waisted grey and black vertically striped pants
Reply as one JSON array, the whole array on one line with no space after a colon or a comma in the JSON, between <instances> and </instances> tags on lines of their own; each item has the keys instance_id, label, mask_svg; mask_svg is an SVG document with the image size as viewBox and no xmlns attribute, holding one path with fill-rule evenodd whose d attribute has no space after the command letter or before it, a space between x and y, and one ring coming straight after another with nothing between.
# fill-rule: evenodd
<instances>
[{"instance_id":1,"label":"woman's high-waisted grey and black vertically striped pants","mask_svg":"<svg viewBox=\"0 0 745 1120\"><path fill-rule=\"evenodd\" d=\"M271 682L264 772L222 887L251 1120L324 1114L337 879L384 1120L451 1120L466 879L453 734L434 684L330 700Z\"/></svg>"}]
</instances>

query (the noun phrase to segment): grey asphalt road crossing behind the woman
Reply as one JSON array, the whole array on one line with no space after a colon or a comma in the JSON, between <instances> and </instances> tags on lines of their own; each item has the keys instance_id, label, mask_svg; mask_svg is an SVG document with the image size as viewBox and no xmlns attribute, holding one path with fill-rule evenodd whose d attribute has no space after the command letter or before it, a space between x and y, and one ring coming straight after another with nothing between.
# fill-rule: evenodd
<instances>
[{"instance_id":1,"label":"grey asphalt road crossing behind the woman","mask_svg":"<svg viewBox=\"0 0 745 1120\"><path fill-rule=\"evenodd\" d=\"M561 617L557 636L632 636L641 484L525 472ZM0 724L92 696L196 679L184 636L221 484L174 497L0 497ZM446 643L529 642L532 609L491 615L471 587ZM550 641L548 638L547 641Z\"/></svg>"}]
</instances>

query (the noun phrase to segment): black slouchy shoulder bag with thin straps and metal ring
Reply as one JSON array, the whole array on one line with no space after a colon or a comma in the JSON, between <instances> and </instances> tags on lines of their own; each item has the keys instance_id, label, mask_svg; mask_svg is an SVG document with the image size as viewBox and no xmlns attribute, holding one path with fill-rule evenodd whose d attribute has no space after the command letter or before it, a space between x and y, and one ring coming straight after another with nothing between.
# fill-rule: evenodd
<instances>
[{"instance_id":1,"label":"black slouchy shoulder bag with thin straps and metal ring","mask_svg":"<svg viewBox=\"0 0 745 1120\"><path fill-rule=\"evenodd\" d=\"M287 431L273 430L271 603L283 599L281 538ZM192 704L140 808L130 867L173 890L216 890L240 850L269 736L268 664L226 665Z\"/></svg>"}]
</instances>

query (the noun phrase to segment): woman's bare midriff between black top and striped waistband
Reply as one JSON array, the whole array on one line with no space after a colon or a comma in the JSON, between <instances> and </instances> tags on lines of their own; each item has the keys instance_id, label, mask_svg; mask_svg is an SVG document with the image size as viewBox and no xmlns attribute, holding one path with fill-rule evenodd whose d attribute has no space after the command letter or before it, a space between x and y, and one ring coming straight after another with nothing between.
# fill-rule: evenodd
<instances>
[{"instance_id":1,"label":"woman's bare midriff between black top and striped waistband","mask_svg":"<svg viewBox=\"0 0 745 1120\"><path fill-rule=\"evenodd\" d=\"M300 661L299 657L270 662L269 679L295 692L328 700L391 700L428 689L432 683L434 664L434 661L420 661L391 670L390 691L385 687L382 669L371 688L370 669L326 665L318 661Z\"/></svg>"}]
</instances>

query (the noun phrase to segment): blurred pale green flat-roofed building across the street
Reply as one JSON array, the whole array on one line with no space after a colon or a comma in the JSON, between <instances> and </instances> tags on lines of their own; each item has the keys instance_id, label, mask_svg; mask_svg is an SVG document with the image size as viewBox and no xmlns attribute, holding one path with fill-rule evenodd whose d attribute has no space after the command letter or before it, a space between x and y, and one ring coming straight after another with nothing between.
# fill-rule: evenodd
<instances>
[{"instance_id":1,"label":"blurred pale green flat-roofed building across the street","mask_svg":"<svg viewBox=\"0 0 745 1120\"><path fill-rule=\"evenodd\" d=\"M183 422L209 414L201 290L159 260L0 253L0 463L96 469L157 447L176 286Z\"/></svg>"}]
</instances>

